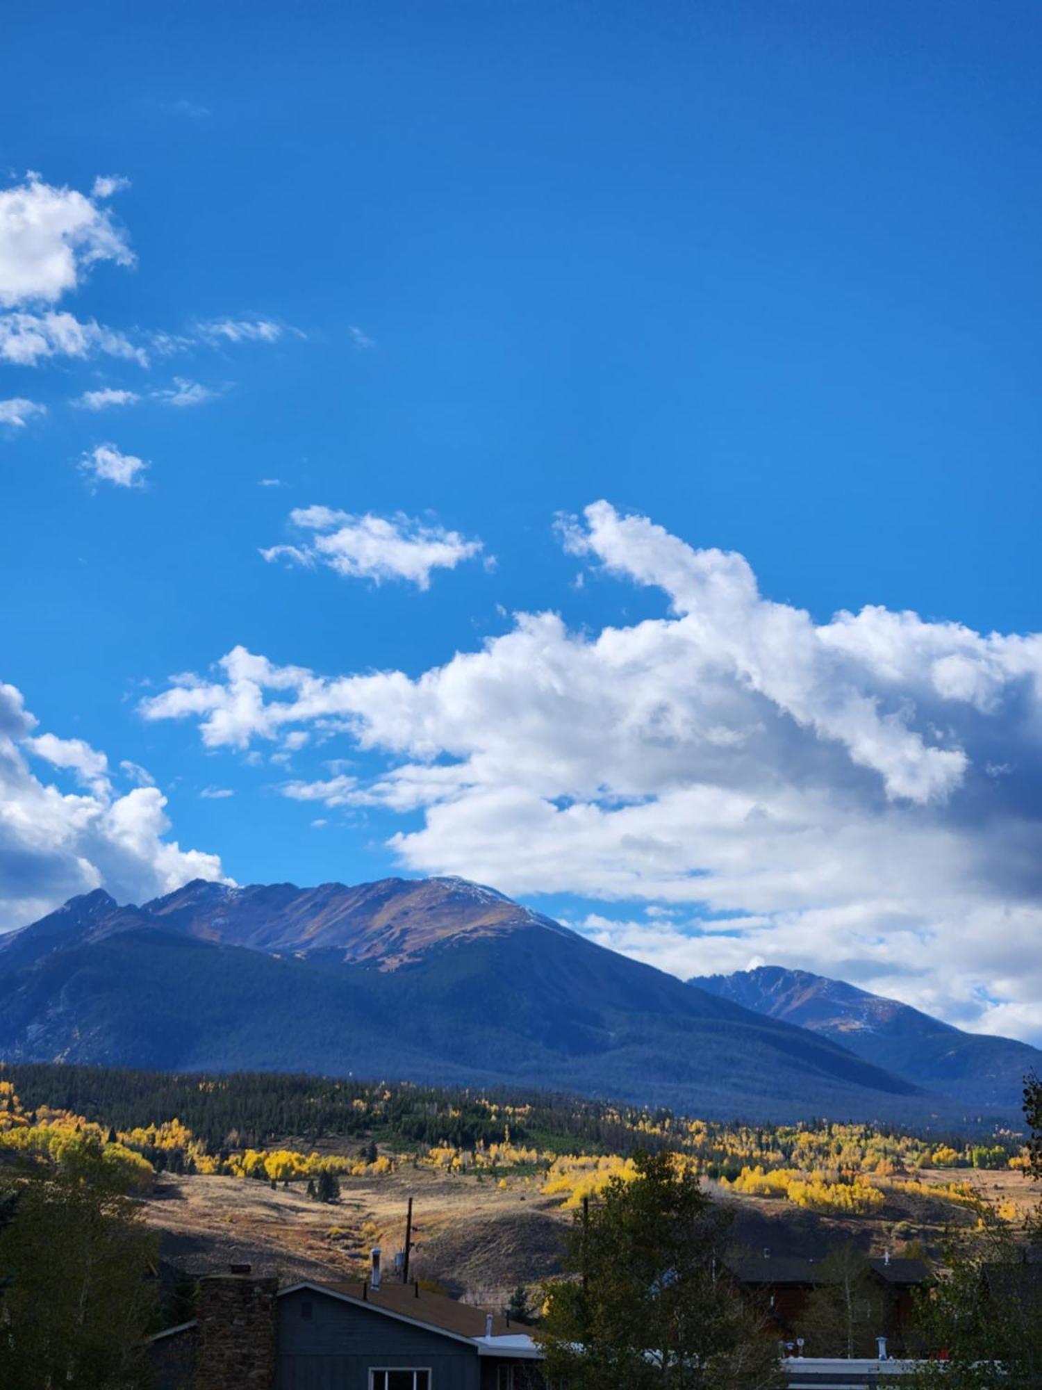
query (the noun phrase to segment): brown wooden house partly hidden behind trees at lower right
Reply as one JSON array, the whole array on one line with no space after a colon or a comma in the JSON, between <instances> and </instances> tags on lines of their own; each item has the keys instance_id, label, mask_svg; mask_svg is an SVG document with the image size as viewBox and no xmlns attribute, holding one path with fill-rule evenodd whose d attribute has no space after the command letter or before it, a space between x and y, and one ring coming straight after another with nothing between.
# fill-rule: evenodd
<instances>
[{"instance_id":1,"label":"brown wooden house partly hidden behind trees at lower right","mask_svg":"<svg viewBox=\"0 0 1042 1390\"><path fill-rule=\"evenodd\" d=\"M878 1334L896 1351L909 1340L914 1325L914 1290L925 1287L931 1273L921 1259L892 1259L881 1255L867 1261L873 1302L878 1314ZM727 1269L739 1287L767 1314L784 1340L796 1336L811 1293L824 1283L821 1261L795 1255L728 1259Z\"/></svg>"}]
</instances>

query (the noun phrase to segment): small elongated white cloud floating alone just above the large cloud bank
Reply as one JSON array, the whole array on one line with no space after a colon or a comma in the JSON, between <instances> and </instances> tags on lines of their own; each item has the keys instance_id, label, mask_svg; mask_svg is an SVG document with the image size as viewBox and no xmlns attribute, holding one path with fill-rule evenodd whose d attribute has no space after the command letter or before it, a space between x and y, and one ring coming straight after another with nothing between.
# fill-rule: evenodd
<instances>
[{"instance_id":1,"label":"small elongated white cloud floating alone just above the large cloud bank","mask_svg":"<svg viewBox=\"0 0 1042 1390\"><path fill-rule=\"evenodd\" d=\"M465 541L458 531L446 531L413 517L352 516L331 507L296 507L289 514L295 527L313 532L300 545L272 545L261 550L265 560L296 564L324 564L352 578L408 580L420 589L431 585L431 571L453 570L482 549L481 541Z\"/></svg>"}]
</instances>

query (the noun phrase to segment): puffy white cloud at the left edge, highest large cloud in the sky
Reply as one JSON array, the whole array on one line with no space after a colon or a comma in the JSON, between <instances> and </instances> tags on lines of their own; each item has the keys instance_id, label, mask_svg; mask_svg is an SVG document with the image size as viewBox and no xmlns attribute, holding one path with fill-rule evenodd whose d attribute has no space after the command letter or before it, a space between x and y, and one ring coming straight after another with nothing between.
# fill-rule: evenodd
<instances>
[{"instance_id":1,"label":"puffy white cloud at the left edge, highest large cloud in the sky","mask_svg":"<svg viewBox=\"0 0 1042 1390\"><path fill-rule=\"evenodd\" d=\"M113 192L111 179L99 179L88 196L44 183L39 174L0 190L0 306L53 304L97 261L133 264L126 238L96 202Z\"/></svg>"}]
</instances>

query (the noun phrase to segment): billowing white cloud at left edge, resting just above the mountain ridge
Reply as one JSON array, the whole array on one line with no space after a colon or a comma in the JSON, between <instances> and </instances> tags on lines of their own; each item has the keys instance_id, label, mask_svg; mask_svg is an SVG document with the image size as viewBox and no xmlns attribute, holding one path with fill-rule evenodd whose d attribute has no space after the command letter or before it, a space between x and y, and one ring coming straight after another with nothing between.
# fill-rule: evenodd
<instances>
[{"instance_id":1,"label":"billowing white cloud at left edge, resting just above the mountain ridge","mask_svg":"<svg viewBox=\"0 0 1042 1390\"><path fill-rule=\"evenodd\" d=\"M0 685L0 930L92 888L143 902L190 878L224 878L217 855L167 838L158 788L118 796L104 753L35 728L21 692ZM69 771L81 790L61 791L31 760Z\"/></svg>"}]
</instances>

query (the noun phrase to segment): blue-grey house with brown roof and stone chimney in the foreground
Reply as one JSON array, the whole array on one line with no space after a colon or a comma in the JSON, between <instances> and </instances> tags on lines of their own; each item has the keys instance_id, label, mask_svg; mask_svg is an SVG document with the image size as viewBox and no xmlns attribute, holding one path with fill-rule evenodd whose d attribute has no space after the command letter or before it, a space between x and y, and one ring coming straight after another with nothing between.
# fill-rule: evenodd
<instances>
[{"instance_id":1,"label":"blue-grey house with brown roof and stone chimney in the foreground","mask_svg":"<svg viewBox=\"0 0 1042 1390\"><path fill-rule=\"evenodd\" d=\"M156 1390L528 1390L529 1330L420 1284L279 1289L249 1266L200 1283L199 1316L150 1343Z\"/></svg>"}]
</instances>

